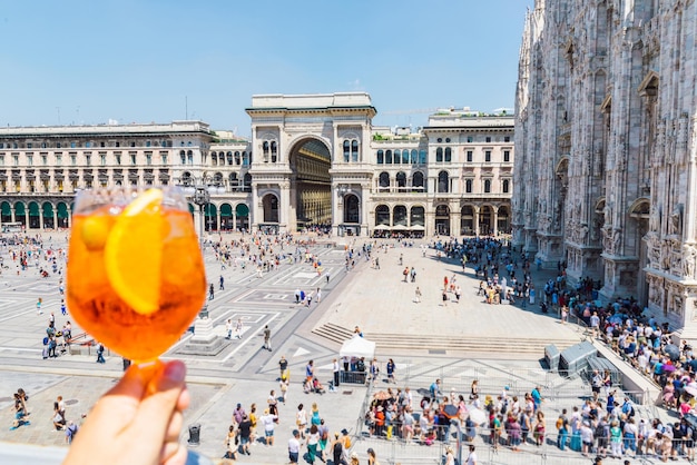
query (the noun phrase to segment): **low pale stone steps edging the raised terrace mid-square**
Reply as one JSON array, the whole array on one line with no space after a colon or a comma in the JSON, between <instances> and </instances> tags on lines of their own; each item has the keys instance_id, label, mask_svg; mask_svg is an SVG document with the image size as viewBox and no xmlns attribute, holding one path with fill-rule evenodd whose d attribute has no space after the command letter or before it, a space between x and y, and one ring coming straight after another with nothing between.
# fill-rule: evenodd
<instances>
[{"instance_id":1,"label":"low pale stone steps edging the raised terrace mid-square","mask_svg":"<svg viewBox=\"0 0 697 465\"><path fill-rule=\"evenodd\" d=\"M315 327L312 330L317 336L330 339L336 344L343 344L353 337L353 332L331 323ZM553 344L559 350L563 350L578 340L573 339L532 339L532 338L507 338L497 342L492 337L439 337L436 335L400 335L389 333L371 333L365 337L375 343L377 350L449 350L449 352L478 352L498 354L539 354L544 355L544 347Z\"/></svg>"}]
</instances>

